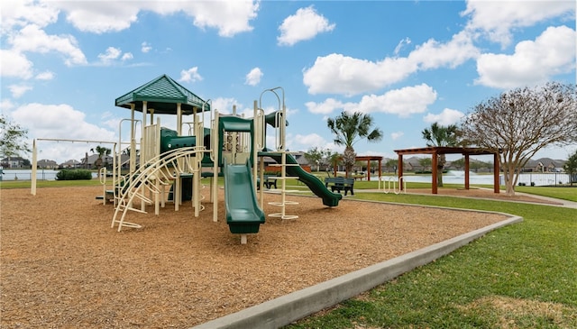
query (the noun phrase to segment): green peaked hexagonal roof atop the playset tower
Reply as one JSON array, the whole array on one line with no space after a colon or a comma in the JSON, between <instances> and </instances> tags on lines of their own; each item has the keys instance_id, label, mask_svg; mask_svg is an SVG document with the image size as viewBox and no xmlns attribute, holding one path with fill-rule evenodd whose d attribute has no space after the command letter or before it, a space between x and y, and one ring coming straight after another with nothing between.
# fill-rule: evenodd
<instances>
[{"instance_id":1,"label":"green peaked hexagonal roof atop the playset tower","mask_svg":"<svg viewBox=\"0 0 577 329\"><path fill-rule=\"evenodd\" d=\"M178 103L181 104L182 114L193 114L195 109L200 113L205 104L204 100L166 74L116 98L114 103L125 108L131 108L133 104L136 111L142 112L143 102L148 102L146 108L154 109L154 114L177 114ZM209 104L205 104L205 111L210 111Z\"/></svg>"}]
</instances>

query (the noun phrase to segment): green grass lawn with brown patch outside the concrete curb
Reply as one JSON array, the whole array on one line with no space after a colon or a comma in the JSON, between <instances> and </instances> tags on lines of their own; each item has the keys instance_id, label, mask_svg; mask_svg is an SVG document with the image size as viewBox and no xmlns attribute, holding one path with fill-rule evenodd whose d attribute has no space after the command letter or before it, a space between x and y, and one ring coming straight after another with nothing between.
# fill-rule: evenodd
<instances>
[{"instance_id":1,"label":"green grass lawn with brown patch outside the concrete curb","mask_svg":"<svg viewBox=\"0 0 577 329\"><path fill-rule=\"evenodd\" d=\"M523 189L563 198L576 191ZM499 211L524 222L287 328L577 328L576 209L383 193L356 198Z\"/></svg>"}]
</instances>

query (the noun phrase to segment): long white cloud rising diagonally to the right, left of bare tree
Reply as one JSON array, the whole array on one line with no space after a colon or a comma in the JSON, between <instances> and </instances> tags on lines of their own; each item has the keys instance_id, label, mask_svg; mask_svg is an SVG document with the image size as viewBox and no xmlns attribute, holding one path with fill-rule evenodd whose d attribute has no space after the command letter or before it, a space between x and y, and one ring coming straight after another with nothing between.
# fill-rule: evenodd
<instances>
[{"instance_id":1,"label":"long white cloud rising diagonally to the right, left of bare tree","mask_svg":"<svg viewBox=\"0 0 577 329\"><path fill-rule=\"evenodd\" d=\"M426 41L406 58L371 61L335 53L317 57L315 64L304 70L303 83L308 87L309 94L353 96L397 83L419 69L453 69L477 56L479 51L469 35L459 32L445 43Z\"/></svg>"}]
</instances>

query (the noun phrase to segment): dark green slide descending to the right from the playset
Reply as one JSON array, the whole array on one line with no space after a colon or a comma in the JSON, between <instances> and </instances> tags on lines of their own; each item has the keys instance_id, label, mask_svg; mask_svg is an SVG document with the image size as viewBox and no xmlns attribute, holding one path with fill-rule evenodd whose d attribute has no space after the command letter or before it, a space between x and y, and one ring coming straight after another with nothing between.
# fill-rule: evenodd
<instances>
[{"instance_id":1,"label":"dark green slide descending to the right from the playset","mask_svg":"<svg viewBox=\"0 0 577 329\"><path fill-rule=\"evenodd\" d=\"M263 151L259 152L259 155L267 156L277 161L277 163L282 162L282 157L279 152ZM287 154L287 164L298 164L297 159L290 154ZM300 166L287 166L287 175L298 177L298 180L307 184L307 187L315 193L316 196L323 199L323 205L325 206L339 206L339 200L343 198L343 195L331 192L325 187L320 179L316 178L315 175L309 174L305 169Z\"/></svg>"}]
</instances>

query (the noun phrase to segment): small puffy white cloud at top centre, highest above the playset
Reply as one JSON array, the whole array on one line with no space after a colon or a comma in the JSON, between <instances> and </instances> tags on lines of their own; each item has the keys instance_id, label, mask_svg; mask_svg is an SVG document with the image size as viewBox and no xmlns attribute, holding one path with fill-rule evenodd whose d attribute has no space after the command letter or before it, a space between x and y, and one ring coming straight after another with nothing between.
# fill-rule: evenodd
<instances>
[{"instance_id":1,"label":"small puffy white cloud at top centre, highest above the playset","mask_svg":"<svg viewBox=\"0 0 577 329\"><path fill-rule=\"evenodd\" d=\"M298 41L311 40L318 33L331 32L334 23L329 23L325 16L316 14L315 8L299 8L296 14L290 15L280 24L280 35L277 41L281 46L292 46Z\"/></svg>"}]
</instances>

